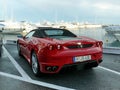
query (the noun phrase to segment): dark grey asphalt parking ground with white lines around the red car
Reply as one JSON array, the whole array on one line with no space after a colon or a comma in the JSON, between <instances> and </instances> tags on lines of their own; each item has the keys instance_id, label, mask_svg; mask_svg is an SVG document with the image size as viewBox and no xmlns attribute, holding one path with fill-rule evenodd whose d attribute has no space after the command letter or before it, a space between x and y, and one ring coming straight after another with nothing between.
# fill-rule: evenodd
<instances>
[{"instance_id":1,"label":"dark grey asphalt parking ground with white lines around the red car","mask_svg":"<svg viewBox=\"0 0 120 90\"><path fill-rule=\"evenodd\" d=\"M120 55L103 54L99 67L35 77L15 44L4 45L0 58L0 90L120 90Z\"/></svg>"}]
</instances>

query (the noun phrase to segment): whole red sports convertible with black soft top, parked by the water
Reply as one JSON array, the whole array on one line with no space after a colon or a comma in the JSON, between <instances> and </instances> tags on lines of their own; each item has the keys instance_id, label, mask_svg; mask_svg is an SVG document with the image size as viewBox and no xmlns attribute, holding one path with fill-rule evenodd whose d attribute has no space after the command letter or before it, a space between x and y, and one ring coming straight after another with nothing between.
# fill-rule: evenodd
<instances>
[{"instance_id":1,"label":"whole red sports convertible with black soft top, parked by the water","mask_svg":"<svg viewBox=\"0 0 120 90\"><path fill-rule=\"evenodd\" d=\"M97 67L102 62L102 41L77 37L66 29L38 28L19 38L17 48L35 75L58 73L62 68Z\"/></svg>"}]
</instances>

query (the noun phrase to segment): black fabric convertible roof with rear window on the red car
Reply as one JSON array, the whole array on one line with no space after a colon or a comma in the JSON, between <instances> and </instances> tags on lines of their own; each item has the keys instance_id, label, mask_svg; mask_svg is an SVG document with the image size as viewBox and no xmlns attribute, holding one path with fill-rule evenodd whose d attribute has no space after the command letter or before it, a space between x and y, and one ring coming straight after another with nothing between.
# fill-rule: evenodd
<instances>
[{"instance_id":1,"label":"black fabric convertible roof with rear window on the red car","mask_svg":"<svg viewBox=\"0 0 120 90\"><path fill-rule=\"evenodd\" d=\"M35 37L54 37L54 36L69 36L77 37L75 34L67 29L53 28L53 27L38 27L35 29L33 36ZM62 31L62 32L61 32Z\"/></svg>"}]
</instances>

